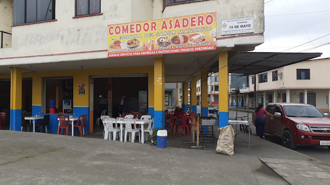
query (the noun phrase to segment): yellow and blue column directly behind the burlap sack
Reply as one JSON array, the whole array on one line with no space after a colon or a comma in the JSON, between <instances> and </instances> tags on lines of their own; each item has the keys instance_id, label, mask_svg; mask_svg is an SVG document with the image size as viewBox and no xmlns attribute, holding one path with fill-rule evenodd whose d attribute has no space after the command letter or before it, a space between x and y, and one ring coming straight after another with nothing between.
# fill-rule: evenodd
<instances>
[{"instance_id":1,"label":"yellow and blue column directly behind the burlap sack","mask_svg":"<svg viewBox=\"0 0 330 185\"><path fill-rule=\"evenodd\" d=\"M228 52L219 52L219 127L228 125Z\"/></svg>"}]
</instances>

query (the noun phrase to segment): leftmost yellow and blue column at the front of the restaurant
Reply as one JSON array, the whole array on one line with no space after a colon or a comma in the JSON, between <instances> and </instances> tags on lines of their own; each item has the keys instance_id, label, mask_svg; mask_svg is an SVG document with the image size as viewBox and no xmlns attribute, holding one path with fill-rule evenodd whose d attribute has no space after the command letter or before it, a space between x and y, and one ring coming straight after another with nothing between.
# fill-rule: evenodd
<instances>
[{"instance_id":1,"label":"leftmost yellow and blue column at the front of the restaurant","mask_svg":"<svg viewBox=\"0 0 330 185\"><path fill-rule=\"evenodd\" d=\"M21 131L22 126L22 69L11 68L10 130Z\"/></svg>"}]
</instances>

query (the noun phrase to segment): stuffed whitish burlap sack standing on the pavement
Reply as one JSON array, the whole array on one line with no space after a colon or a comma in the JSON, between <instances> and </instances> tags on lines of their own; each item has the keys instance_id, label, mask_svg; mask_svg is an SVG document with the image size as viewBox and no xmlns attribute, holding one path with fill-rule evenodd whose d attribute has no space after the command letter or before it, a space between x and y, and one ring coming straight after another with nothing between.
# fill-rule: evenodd
<instances>
[{"instance_id":1,"label":"stuffed whitish burlap sack standing on the pavement","mask_svg":"<svg viewBox=\"0 0 330 185\"><path fill-rule=\"evenodd\" d=\"M216 152L228 156L234 155L234 129L231 125L219 128L220 135L217 142Z\"/></svg>"}]
</instances>

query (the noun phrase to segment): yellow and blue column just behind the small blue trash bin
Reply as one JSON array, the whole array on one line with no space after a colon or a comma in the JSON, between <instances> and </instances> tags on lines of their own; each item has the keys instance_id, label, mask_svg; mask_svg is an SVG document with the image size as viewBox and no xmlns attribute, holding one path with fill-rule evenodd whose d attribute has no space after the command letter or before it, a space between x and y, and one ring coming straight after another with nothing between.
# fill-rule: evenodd
<instances>
[{"instance_id":1,"label":"yellow and blue column just behind the small blue trash bin","mask_svg":"<svg viewBox=\"0 0 330 185\"><path fill-rule=\"evenodd\" d=\"M165 60L154 59L155 128L165 128Z\"/></svg>"}]
</instances>

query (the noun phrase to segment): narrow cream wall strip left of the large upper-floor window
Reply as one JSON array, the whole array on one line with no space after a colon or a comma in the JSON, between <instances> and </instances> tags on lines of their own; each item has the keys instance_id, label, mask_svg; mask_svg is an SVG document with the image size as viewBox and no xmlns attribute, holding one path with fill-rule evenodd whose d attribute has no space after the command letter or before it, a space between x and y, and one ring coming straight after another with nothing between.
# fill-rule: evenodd
<instances>
[{"instance_id":1,"label":"narrow cream wall strip left of the large upper-floor window","mask_svg":"<svg viewBox=\"0 0 330 185\"><path fill-rule=\"evenodd\" d=\"M0 31L11 33L13 25L13 0L0 1ZM1 35L0 35L1 42ZM12 47L12 36L4 33L3 48Z\"/></svg>"}]
</instances>

